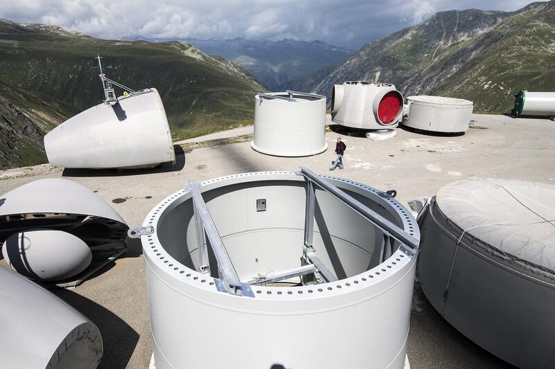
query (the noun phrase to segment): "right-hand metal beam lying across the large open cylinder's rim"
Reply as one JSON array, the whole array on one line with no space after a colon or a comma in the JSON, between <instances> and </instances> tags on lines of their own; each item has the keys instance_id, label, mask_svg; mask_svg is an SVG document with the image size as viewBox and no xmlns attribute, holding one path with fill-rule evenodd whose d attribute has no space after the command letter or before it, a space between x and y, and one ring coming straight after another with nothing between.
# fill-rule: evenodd
<instances>
[{"instance_id":1,"label":"right-hand metal beam lying across the large open cylinder's rim","mask_svg":"<svg viewBox=\"0 0 555 369\"><path fill-rule=\"evenodd\" d=\"M393 239L398 240L402 244L406 246L409 253L414 255L416 250L418 249L418 240L412 235L409 235L404 229L399 228L396 224L388 221L388 219L382 217L374 210L368 208L368 206L362 204L357 199L353 198L350 195L347 195L343 190L340 190L336 186L332 185L332 183L328 182L327 180L318 176L318 174L311 172L308 168L301 167L300 168L301 174L305 176L309 181L313 181L316 183L320 188L329 192L331 195L336 197L342 201L345 205L355 210L357 213L368 219L371 223L375 224L379 228L382 229L385 235L389 237L393 237Z\"/></svg>"}]
</instances>

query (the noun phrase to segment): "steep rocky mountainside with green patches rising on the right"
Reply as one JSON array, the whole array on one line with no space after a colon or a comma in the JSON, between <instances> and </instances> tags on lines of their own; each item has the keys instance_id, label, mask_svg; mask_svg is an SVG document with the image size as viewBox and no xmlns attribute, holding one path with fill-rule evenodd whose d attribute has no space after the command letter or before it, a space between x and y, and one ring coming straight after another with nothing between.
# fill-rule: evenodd
<instances>
[{"instance_id":1,"label":"steep rocky mountainside with green patches rising on the right","mask_svg":"<svg viewBox=\"0 0 555 369\"><path fill-rule=\"evenodd\" d=\"M555 90L555 1L517 12L452 10L370 42L312 90L366 80L404 96L467 98L475 111L506 112L521 89Z\"/></svg>"}]
</instances>

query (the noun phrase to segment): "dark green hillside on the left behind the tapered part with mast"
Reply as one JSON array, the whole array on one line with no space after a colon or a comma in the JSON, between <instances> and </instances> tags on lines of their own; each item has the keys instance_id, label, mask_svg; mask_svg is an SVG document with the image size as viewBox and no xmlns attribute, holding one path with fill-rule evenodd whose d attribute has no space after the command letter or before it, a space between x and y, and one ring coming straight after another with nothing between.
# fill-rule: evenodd
<instances>
[{"instance_id":1,"label":"dark green hillside on the left behind the tapered part with mast","mask_svg":"<svg viewBox=\"0 0 555 369\"><path fill-rule=\"evenodd\" d=\"M0 19L0 168L44 163L44 133L103 100L97 53L112 80L160 91L174 139L250 123L264 90L241 66L187 42L104 40Z\"/></svg>"}]
</instances>

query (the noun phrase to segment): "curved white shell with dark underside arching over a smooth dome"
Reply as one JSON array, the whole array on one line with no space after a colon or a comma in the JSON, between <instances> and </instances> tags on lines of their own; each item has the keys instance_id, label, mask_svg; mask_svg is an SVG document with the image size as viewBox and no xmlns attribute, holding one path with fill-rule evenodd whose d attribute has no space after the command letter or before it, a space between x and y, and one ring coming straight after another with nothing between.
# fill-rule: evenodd
<instances>
[{"instance_id":1,"label":"curved white shell with dark underside arching over a smooth dome","mask_svg":"<svg viewBox=\"0 0 555 369\"><path fill-rule=\"evenodd\" d=\"M128 226L103 199L69 179L39 179L0 196L0 242L31 229L58 229L89 246L126 241Z\"/></svg>"}]
</instances>

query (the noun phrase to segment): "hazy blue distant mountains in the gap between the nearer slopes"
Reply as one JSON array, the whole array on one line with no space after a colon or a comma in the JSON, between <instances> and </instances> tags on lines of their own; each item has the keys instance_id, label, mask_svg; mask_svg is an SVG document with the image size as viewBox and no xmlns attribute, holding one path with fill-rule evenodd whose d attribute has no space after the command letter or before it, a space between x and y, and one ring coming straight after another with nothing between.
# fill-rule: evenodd
<instances>
[{"instance_id":1,"label":"hazy blue distant mountains in the gap between the nearer slopes","mask_svg":"<svg viewBox=\"0 0 555 369\"><path fill-rule=\"evenodd\" d=\"M321 41L244 38L187 41L207 54L221 55L243 66L273 91L289 89L300 78L320 69L337 66L352 54L352 51L346 48Z\"/></svg>"}]
</instances>

